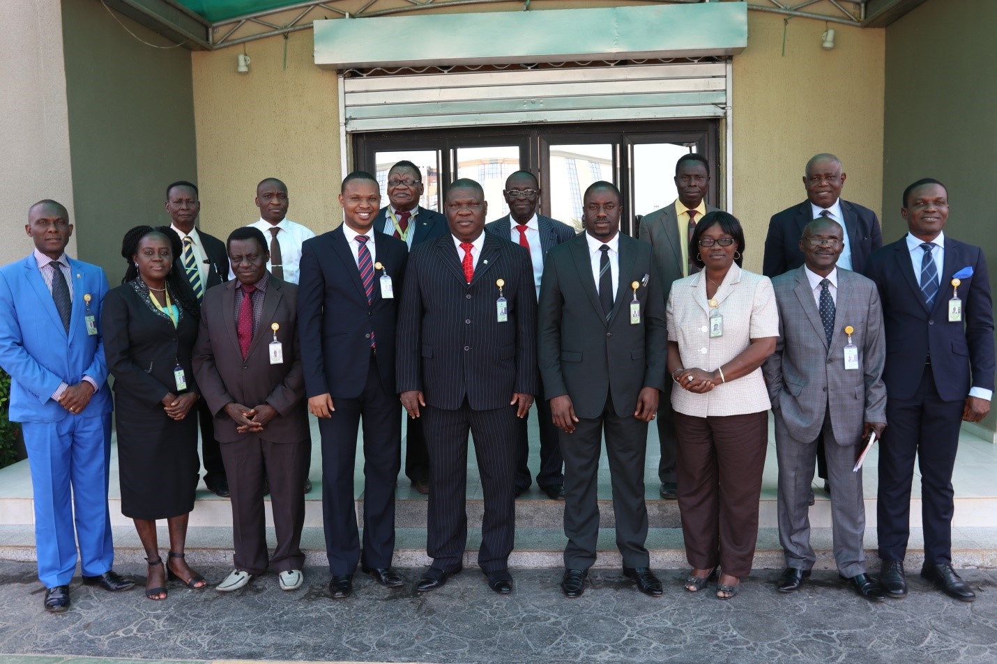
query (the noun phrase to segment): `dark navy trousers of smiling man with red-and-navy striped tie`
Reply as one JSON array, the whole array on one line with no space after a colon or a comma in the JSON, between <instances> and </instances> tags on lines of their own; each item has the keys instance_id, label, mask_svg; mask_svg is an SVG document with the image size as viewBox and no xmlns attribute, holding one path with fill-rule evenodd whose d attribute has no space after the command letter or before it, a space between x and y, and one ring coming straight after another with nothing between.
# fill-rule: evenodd
<instances>
[{"instance_id":1,"label":"dark navy trousers of smiling man with red-and-navy striped tie","mask_svg":"<svg viewBox=\"0 0 997 664\"><path fill-rule=\"evenodd\" d=\"M336 411L319 418L322 435L322 514L329 572L352 574L360 560L353 493L357 430L364 434L364 542L368 567L390 567L395 553L395 483L401 466L402 405L387 392L371 357L367 384L356 399L333 399Z\"/></svg>"}]
</instances>

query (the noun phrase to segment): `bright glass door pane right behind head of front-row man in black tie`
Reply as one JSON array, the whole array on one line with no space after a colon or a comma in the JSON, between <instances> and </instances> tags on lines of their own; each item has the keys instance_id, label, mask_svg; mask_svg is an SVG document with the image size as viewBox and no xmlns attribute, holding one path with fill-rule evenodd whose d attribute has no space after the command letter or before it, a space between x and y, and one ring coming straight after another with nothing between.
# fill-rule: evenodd
<instances>
[{"instance_id":1,"label":"bright glass door pane right behind head of front-row man in black tie","mask_svg":"<svg viewBox=\"0 0 997 664\"><path fill-rule=\"evenodd\" d=\"M581 196L600 179L613 182L613 146L550 146L550 216L581 230Z\"/></svg>"}]
</instances>

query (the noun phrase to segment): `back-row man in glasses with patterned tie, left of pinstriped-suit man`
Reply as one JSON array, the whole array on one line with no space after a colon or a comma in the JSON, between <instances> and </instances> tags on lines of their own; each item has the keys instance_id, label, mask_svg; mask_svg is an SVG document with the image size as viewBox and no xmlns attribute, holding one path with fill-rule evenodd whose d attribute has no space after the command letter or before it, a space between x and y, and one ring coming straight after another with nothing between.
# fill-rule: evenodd
<instances>
[{"instance_id":1,"label":"back-row man in glasses with patterned tie, left of pinstriped-suit man","mask_svg":"<svg viewBox=\"0 0 997 664\"><path fill-rule=\"evenodd\" d=\"M412 162L402 161L388 171L388 204L374 219L374 227L404 241L409 250L420 242L449 232L447 217L419 204L425 190L423 175ZM405 475L420 494L430 493L430 457L421 420L410 419L405 435Z\"/></svg>"}]
</instances>

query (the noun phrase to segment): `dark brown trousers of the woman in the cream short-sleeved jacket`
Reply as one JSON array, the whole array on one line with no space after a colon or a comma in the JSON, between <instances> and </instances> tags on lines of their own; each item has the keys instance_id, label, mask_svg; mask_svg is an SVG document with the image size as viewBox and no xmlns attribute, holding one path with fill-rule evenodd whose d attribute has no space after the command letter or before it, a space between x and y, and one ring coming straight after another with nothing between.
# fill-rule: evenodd
<instances>
[{"instance_id":1,"label":"dark brown trousers of the woman in the cream short-sleeved jacket","mask_svg":"<svg viewBox=\"0 0 997 664\"><path fill-rule=\"evenodd\" d=\"M696 418L675 414L679 510L686 557L697 569L751 571L769 412Z\"/></svg>"}]
</instances>

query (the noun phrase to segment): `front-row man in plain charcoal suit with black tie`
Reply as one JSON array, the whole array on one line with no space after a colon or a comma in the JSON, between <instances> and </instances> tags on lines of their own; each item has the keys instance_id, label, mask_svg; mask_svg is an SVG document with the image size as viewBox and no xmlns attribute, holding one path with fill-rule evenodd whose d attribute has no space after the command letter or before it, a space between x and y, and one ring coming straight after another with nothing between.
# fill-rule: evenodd
<instances>
[{"instance_id":1,"label":"front-row man in plain charcoal suit with black tie","mask_svg":"<svg viewBox=\"0 0 997 664\"><path fill-rule=\"evenodd\" d=\"M543 268L537 356L564 457L567 597L584 591L599 534L596 482L602 435L624 575L662 594L650 569L644 458L647 423L665 384L665 297L651 247L619 232L619 190L585 190L585 232L554 247Z\"/></svg>"}]
</instances>

